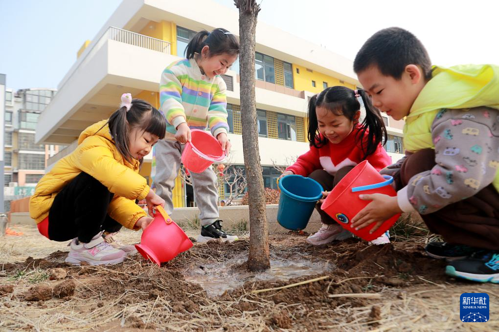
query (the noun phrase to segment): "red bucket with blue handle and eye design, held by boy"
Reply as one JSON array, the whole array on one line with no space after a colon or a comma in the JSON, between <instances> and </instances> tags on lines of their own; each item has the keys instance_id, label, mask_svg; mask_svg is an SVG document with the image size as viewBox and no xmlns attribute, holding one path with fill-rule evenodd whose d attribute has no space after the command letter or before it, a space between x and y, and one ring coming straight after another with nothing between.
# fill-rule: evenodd
<instances>
[{"instance_id":1,"label":"red bucket with blue handle and eye design, held by boy","mask_svg":"<svg viewBox=\"0 0 499 332\"><path fill-rule=\"evenodd\" d=\"M321 210L325 211L331 218L337 221L343 228L367 241L372 241L386 232L400 217L397 214L383 222L381 226L369 233L375 223L359 230L351 227L350 221L357 213L364 209L371 201L363 201L360 194L385 194L396 196L397 193L390 186L393 178L381 175L367 160L355 166L341 181L333 188L322 203Z\"/></svg>"}]
</instances>

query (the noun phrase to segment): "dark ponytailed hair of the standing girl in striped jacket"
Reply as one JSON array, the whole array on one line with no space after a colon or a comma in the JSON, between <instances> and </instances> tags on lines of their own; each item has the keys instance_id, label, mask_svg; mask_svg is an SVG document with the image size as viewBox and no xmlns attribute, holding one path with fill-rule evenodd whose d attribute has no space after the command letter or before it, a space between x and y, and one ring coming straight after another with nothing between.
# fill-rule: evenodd
<instances>
[{"instance_id":1,"label":"dark ponytailed hair of the standing girl in striped jacket","mask_svg":"<svg viewBox=\"0 0 499 332\"><path fill-rule=\"evenodd\" d=\"M209 56L219 54L239 54L239 41L232 32L224 28L218 28L212 32L201 30L189 41L185 50L187 59L194 58L194 55L201 54L203 47L209 47Z\"/></svg>"}]
</instances>

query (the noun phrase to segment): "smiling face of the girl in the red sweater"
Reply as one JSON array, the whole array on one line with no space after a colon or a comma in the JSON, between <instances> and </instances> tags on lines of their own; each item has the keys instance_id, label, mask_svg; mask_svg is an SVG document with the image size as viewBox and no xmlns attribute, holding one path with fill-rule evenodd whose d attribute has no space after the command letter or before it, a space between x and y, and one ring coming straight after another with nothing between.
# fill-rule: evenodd
<instances>
[{"instance_id":1,"label":"smiling face of the girl in the red sweater","mask_svg":"<svg viewBox=\"0 0 499 332\"><path fill-rule=\"evenodd\" d=\"M357 111L353 121L345 115L336 115L323 107L316 107L315 114L319 132L331 143L338 144L352 132L355 122L359 119L360 111Z\"/></svg>"}]
</instances>

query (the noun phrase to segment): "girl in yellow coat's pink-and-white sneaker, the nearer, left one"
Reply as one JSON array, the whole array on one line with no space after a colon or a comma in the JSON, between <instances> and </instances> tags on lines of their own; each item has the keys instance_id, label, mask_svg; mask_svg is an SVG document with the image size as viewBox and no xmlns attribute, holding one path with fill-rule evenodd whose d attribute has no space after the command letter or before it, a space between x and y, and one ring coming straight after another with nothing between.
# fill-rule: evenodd
<instances>
[{"instance_id":1,"label":"girl in yellow coat's pink-and-white sneaker, the nearer, left one","mask_svg":"<svg viewBox=\"0 0 499 332\"><path fill-rule=\"evenodd\" d=\"M81 262L87 262L90 265L116 264L125 259L123 250L115 249L102 238L102 232L95 235L88 243L78 242L75 237L69 243L70 250L66 263L80 265Z\"/></svg>"}]
</instances>

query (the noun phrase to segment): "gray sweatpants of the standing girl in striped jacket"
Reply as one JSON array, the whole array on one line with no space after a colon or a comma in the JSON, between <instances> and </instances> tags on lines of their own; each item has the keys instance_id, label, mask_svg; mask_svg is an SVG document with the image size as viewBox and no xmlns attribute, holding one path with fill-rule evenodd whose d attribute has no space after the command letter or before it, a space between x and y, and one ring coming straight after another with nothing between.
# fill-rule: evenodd
<instances>
[{"instance_id":1,"label":"gray sweatpants of the standing girl in striped jacket","mask_svg":"<svg viewBox=\"0 0 499 332\"><path fill-rule=\"evenodd\" d=\"M160 139L155 148L156 172L153 175L156 194L165 200L165 210L173 213L172 191L179 174L182 151L185 144L174 140ZM200 210L199 219L203 226L219 219L217 175L212 167L202 173L190 172L194 185L194 197Z\"/></svg>"}]
</instances>

